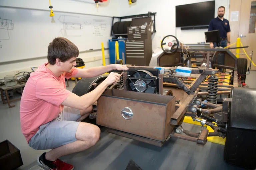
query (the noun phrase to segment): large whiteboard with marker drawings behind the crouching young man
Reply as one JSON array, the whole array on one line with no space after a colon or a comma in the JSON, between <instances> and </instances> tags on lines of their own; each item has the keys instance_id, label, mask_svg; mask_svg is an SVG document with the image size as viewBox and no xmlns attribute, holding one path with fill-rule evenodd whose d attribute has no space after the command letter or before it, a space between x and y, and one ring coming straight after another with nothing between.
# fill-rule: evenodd
<instances>
[{"instance_id":1,"label":"large whiteboard with marker drawings behind the crouching young man","mask_svg":"<svg viewBox=\"0 0 256 170\"><path fill-rule=\"evenodd\" d=\"M0 7L0 63L47 56L48 45L56 37L67 38L80 52L101 49L101 42L108 48L112 17L49 15L50 11Z\"/></svg>"}]
</instances>

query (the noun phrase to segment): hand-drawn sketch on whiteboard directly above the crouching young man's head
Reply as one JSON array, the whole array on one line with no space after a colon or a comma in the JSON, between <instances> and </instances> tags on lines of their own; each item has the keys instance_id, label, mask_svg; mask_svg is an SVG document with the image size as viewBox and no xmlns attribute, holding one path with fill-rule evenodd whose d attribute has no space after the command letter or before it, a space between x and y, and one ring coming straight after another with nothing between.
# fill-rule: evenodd
<instances>
[{"instance_id":1,"label":"hand-drawn sketch on whiteboard directly above the crouching young man's head","mask_svg":"<svg viewBox=\"0 0 256 170\"><path fill-rule=\"evenodd\" d=\"M76 20L79 20L77 16L61 15L58 19L63 24L63 29L60 30L64 37L81 37L83 25Z\"/></svg>"}]
</instances>

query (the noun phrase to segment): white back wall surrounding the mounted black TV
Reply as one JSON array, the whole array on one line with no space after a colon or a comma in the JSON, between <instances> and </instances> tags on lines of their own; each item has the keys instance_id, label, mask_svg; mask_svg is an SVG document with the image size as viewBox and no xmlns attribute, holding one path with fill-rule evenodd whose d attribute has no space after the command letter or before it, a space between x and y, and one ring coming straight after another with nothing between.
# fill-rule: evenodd
<instances>
[{"instance_id":1,"label":"white back wall surrounding the mounted black TV","mask_svg":"<svg viewBox=\"0 0 256 170\"><path fill-rule=\"evenodd\" d=\"M197 42L205 42L204 32L207 29L200 30L181 30L175 27L175 6L191 3L205 2L210 0L138 0L133 6L123 7L121 15L136 15L150 12L156 12L156 34L152 41L153 49L160 47L160 41L166 35L175 35L180 41L187 44L196 44ZM229 0L215 0L215 16L217 17L217 9L219 6L225 6L225 18L228 19Z\"/></svg>"}]
</instances>

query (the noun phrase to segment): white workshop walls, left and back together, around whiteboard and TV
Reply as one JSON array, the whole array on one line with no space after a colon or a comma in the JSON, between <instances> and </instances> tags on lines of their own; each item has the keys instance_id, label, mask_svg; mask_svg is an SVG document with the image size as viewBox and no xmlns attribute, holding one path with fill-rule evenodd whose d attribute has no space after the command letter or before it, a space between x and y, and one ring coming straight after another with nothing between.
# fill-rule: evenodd
<instances>
[{"instance_id":1,"label":"white workshop walls, left and back together, around whiteboard and TV","mask_svg":"<svg viewBox=\"0 0 256 170\"><path fill-rule=\"evenodd\" d=\"M84 13L92 15L103 15L103 16L127 16L135 14L144 14L151 12L157 12L156 16L156 31L157 33L153 36L152 47L153 49L160 47L160 41L166 35L175 35L180 41L184 43L197 43L205 42L203 30L180 30L180 28L175 27L175 6L184 5L189 3L204 2L207 0L138 0L136 3L129 5L127 0L109 0L106 3L100 3L99 8L93 3L85 3L83 1L89 2L89 0L52 0L51 5L54 11L64 11L64 12L75 12ZM91 0L93 2L93 0ZM229 13L228 9L229 0L216 0L215 1L215 11L219 6L226 7L227 17ZM20 7L20 8L31 8L40 10L49 10L49 1L35 1L35 0L1 0L0 6L9 7ZM217 12L215 14L217 16ZM106 58L109 56L108 50L105 50ZM86 64L86 67L97 66L102 61L98 61L101 58L101 51L93 51L88 53L81 53L79 57L84 61L90 61ZM96 61L94 61L96 60ZM29 67L37 67L40 64L46 62L46 56L40 57L40 59L26 60L16 63L0 63L0 79L3 75L12 73L15 70L23 71ZM106 64L108 64L108 59ZM10 72L11 71L11 72Z\"/></svg>"}]
</instances>

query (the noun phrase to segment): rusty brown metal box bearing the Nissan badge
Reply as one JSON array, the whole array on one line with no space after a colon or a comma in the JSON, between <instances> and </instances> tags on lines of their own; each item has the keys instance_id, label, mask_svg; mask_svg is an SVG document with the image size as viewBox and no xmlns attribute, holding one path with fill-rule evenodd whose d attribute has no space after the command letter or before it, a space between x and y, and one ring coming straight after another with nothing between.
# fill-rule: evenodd
<instances>
[{"instance_id":1,"label":"rusty brown metal box bearing the Nissan badge","mask_svg":"<svg viewBox=\"0 0 256 170\"><path fill-rule=\"evenodd\" d=\"M131 119L121 114L133 112ZM145 138L165 141L173 130L170 118L175 112L175 96L107 90L97 101L97 124Z\"/></svg>"}]
</instances>

